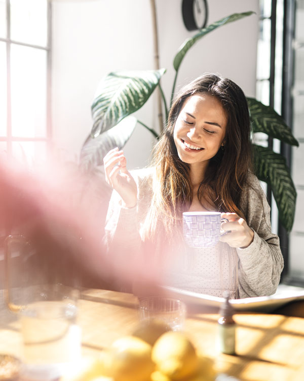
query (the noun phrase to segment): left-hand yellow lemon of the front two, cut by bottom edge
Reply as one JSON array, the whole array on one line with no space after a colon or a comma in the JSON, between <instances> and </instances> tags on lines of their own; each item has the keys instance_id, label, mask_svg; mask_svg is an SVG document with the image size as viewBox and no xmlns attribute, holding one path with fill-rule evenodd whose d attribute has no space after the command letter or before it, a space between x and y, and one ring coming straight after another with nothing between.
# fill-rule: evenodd
<instances>
[{"instance_id":1,"label":"left-hand yellow lemon of the front two, cut by bottom edge","mask_svg":"<svg viewBox=\"0 0 304 381\"><path fill-rule=\"evenodd\" d=\"M111 376L115 381L147 381L155 369L151 345L135 336L122 337L111 345Z\"/></svg>"}]
</instances>

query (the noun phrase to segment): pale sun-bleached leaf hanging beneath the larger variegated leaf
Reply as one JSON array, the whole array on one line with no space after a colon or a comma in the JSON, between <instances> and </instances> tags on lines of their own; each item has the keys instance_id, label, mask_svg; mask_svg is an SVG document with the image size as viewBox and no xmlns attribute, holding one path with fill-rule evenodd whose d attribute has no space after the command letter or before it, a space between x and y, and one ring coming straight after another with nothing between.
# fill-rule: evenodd
<instances>
[{"instance_id":1,"label":"pale sun-bleached leaf hanging beneath the larger variegated leaf","mask_svg":"<svg viewBox=\"0 0 304 381\"><path fill-rule=\"evenodd\" d=\"M89 135L81 149L80 167L90 172L96 166L103 166L106 153L115 147L124 147L134 131L136 122L135 116L128 116L96 138Z\"/></svg>"}]
</instances>

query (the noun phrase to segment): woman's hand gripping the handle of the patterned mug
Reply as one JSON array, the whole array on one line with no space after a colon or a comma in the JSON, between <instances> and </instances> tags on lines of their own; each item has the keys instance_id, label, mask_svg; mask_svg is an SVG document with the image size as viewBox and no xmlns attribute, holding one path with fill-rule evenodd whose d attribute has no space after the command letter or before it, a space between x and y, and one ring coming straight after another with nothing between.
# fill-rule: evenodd
<instances>
[{"instance_id":1,"label":"woman's hand gripping the handle of the patterned mug","mask_svg":"<svg viewBox=\"0 0 304 381\"><path fill-rule=\"evenodd\" d=\"M229 220L229 222L221 224L221 229L229 231L229 233L221 236L219 240L226 242L231 247L248 247L253 241L254 232L247 225L245 219L236 213L221 213L221 217Z\"/></svg>"}]
</instances>

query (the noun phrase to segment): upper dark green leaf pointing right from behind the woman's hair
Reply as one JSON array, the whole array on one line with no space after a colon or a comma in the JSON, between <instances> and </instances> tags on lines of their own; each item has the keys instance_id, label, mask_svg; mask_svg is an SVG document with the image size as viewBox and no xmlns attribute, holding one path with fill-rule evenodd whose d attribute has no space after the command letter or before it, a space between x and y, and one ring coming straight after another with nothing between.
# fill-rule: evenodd
<instances>
[{"instance_id":1,"label":"upper dark green leaf pointing right from behind the woman's hair","mask_svg":"<svg viewBox=\"0 0 304 381\"><path fill-rule=\"evenodd\" d=\"M290 145L299 146L288 125L272 107L247 98L253 132L263 132Z\"/></svg>"}]
</instances>

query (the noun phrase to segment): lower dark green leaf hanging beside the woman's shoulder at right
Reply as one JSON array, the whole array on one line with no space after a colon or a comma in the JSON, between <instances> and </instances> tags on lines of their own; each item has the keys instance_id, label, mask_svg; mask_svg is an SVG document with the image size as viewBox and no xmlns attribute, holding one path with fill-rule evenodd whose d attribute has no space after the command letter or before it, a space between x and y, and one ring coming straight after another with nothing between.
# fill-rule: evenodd
<instances>
[{"instance_id":1,"label":"lower dark green leaf hanging beside the woman's shoulder at right","mask_svg":"<svg viewBox=\"0 0 304 381\"><path fill-rule=\"evenodd\" d=\"M296 190L285 157L267 147L253 146L256 176L271 186L281 223L290 232L294 220Z\"/></svg>"}]
</instances>

